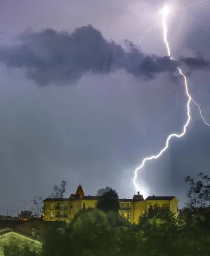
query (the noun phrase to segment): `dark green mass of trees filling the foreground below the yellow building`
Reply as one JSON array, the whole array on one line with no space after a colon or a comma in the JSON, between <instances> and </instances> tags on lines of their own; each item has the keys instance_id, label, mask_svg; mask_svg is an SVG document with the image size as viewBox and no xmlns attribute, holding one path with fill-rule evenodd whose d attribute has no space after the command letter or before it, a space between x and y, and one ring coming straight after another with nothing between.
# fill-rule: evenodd
<instances>
[{"instance_id":1,"label":"dark green mass of trees filling the foreground below the yellow building","mask_svg":"<svg viewBox=\"0 0 210 256\"><path fill-rule=\"evenodd\" d=\"M118 214L118 195L110 189L98 208L79 211L68 227L49 223L42 256L205 256L210 252L208 183L190 180L188 207L177 219L168 205L155 205L137 224ZM207 176L202 179L208 181ZM205 202L205 205L204 205ZM41 256L40 252L5 246L5 256Z\"/></svg>"}]
</instances>

